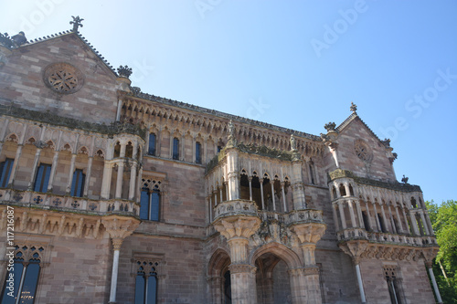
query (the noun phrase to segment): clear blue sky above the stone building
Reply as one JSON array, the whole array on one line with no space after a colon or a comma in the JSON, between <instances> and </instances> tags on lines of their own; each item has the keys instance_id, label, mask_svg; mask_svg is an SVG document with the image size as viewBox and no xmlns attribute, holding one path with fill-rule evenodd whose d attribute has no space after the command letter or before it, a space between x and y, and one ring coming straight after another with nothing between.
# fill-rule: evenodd
<instances>
[{"instance_id":1,"label":"clear blue sky above the stone building","mask_svg":"<svg viewBox=\"0 0 457 304\"><path fill-rule=\"evenodd\" d=\"M1 1L0 32L70 29L143 92L318 135L357 113L397 178L457 199L455 1Z\"/></svg>"}]
</instances>

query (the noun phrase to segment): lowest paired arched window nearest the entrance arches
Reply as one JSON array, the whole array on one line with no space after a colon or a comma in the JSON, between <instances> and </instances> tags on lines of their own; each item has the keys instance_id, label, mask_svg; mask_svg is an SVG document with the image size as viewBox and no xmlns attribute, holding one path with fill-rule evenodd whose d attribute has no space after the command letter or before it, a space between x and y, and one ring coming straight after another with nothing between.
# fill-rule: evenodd
<instances>
[{"instance_id":1,"label":"lowest paired arched window nearest the entrance arches","mask_svg":"<svg viewBox=\"0 0 457 304\"><path fill-rule=\"evenodd\" d=\"M135 278L135 304L157 302L157 262L137 261Z\"/></svg>"}]
</instances>

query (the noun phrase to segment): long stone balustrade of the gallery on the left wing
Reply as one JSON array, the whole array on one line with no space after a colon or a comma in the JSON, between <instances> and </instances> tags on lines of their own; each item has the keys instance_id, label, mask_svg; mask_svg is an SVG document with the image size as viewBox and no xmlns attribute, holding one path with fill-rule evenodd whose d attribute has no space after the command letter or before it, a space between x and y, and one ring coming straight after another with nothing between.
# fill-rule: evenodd
<instances>
[{"instance_id":1,"label":"long stone balustrade of the gallery on the left wing","mask_svg":"<svg viewBox=\"0 0 457 304\"><path fill-rule=\"evenodd\" d=\"M139 204L129 200L92 200L68 195L0 189L0 202L6 204L27 205L35 208L54 209L89 214L126 214L140 215Z\"/></svg>"}]
</instances>

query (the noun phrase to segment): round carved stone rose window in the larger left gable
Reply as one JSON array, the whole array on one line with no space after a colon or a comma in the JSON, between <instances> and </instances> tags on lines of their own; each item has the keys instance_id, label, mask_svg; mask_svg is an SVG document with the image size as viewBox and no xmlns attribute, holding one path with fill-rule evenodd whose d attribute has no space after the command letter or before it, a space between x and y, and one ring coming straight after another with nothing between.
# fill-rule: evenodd
<instances>
[{"instance_id":1,"label":"round carved stone rose window in the larger left gable","mask_svg":"<svg viewBox=\"0 0 457 304\"><path fill-rule=\"evenodd\" d=\"M55 63L45 69L43 80L49 89L60 94L71 94L84 84L84 78L78 68L68 63Z\"/></svg>"}]
</instances>

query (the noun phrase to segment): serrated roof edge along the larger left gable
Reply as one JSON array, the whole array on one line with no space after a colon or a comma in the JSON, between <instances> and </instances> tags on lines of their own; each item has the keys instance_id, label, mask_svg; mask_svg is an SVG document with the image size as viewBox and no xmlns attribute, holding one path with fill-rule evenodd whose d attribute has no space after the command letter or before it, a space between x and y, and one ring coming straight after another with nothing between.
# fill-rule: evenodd
<instances>
[{"instance_id":1,"label":"serrated roof edge along the larger left gable","mask_svg":"<svg viewBox=\"0 0 457 304\"><path fill-rule=\"evenodd\" d=\"M26 40L24 43L22 43L20 45L16 44L15 39L14 39L15 36L8 37L7 34L5 34L5 36L2 35L2 37L0 39L0 44L3 45L4 47L10 48L10 49L15 49L15 48L20 48L20 47L27 47L30 45L35 45L37 43L41 43L44 41L49 41L49 40L52 40L52 39L55 39L58 37L64 37L64 36L69 36L69 35L76 35L77 37L79 37L80 40L93 52L93 54L95 54L95 56L97 56L97 58L99 58L101 60L101 62L103 62L103 64L107 68L109 68L112 71L112 73L114 73L114 75L116 77L118 76L118 74L116 73L116 70L114 68L112 68L112 65L108 62L108 60L106 60L103 56L101 56L100 52L95 47L93 47L90 44L90 42L85 37L83 37L80 34L80 32L78 32L78 31L67 30L67 31L63 31L63 32L58 32L58 33L50 35L50 36L48 35L46 37L38 37L35 39L31 39L29 41ZM5 44L5 42L6 42L6 44Z\"/></svg>"}]
</instances>

